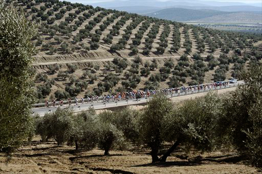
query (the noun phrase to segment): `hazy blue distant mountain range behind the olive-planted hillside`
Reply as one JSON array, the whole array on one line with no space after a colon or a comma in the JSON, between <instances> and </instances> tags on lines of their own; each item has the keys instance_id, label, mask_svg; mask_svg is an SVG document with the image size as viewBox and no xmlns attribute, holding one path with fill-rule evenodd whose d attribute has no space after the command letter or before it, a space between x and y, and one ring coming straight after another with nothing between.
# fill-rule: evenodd
<instances>
[{"instance_id":1,"label":"hazy blue distant mountain range behind the olive-planted hillside","mask_svg":"<svg viewBox=\"0 0 262 174\"><path fill-rule=\"evenodd\" d=\"M262 23L262 3L216 1L108 1L94 3L107 9L173 21Z\"/></svg>"}]
</instances>

